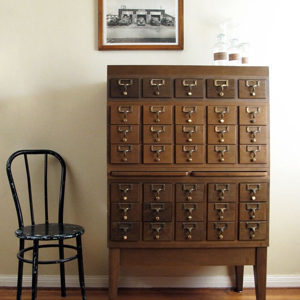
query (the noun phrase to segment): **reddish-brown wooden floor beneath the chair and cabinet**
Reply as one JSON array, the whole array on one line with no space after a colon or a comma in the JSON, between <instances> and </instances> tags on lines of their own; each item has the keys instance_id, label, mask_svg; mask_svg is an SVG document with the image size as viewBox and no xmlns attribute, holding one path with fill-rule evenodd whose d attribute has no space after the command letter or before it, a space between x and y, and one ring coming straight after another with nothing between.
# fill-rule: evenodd
<instances>
[{"instance_id":1,"label":"reddish-brown wooden floor beneath the chair and cabinet","mask_svg":"<svg viewBox=\"0 0 300 300\"><path fill-rule=\"evenodd\" d=\"M79 289L67 289L66 297L57 288L37 291L37 300L82 300ZM0 299L15 299L15 288L0 287ZM107 289L86 289L87 300L108 300ZM240 293L229 288L119 288L118 300L255 300L254 288ZM268 300L299 300L299 288L267 288ZM30 289L24 288L22 300L31 300Z\"/></svg>"}]
</instances>

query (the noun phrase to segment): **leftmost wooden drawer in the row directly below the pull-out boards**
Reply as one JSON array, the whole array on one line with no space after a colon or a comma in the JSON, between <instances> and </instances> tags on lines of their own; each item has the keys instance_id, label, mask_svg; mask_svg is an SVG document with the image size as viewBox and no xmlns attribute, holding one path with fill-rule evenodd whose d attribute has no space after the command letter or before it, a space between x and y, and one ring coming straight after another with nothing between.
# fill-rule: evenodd
<instances>
[{"instance_id":1,"label":"leftmost wooden drawer in the row directly below the pull-out boards","mask_svg":"<svg viewBox=\"0 0 300 300\"><path fill-rule=\"evenodd\" d=\"M110 183L110 201L139 202L139 184Z\"/></svg>"}]
</instances>

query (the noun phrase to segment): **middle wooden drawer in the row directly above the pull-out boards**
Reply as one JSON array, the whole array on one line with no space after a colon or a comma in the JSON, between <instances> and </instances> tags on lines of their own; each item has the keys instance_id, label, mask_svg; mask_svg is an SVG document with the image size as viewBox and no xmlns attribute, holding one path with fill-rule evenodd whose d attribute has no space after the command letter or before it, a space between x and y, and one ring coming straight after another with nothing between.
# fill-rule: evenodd
<instances>
[{"instance_id":1,"label":"middle wooden drawer in the row directly above the pull-out boards","mask_svg":"<svg viewBox=\"0 0 300 300\"><path fill-rule=\"evenodd\" d=\"M204 163L204 146L199 144L185 144L175 146L176 163Z\"/></svg>"}]
</instances>

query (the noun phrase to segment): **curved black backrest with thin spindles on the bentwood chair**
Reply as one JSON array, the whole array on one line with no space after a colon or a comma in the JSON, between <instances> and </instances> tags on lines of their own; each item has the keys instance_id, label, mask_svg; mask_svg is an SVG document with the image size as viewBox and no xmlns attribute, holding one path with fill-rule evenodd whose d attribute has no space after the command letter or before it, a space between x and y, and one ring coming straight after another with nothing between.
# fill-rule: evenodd
<instances>
[{"instance_id":1,"label":"curved black backrest with thin spindles on the bentwood chair","mask_svg":"<svg viewBox=\"0 0 300 300\"><path fill-rule=\"evenodd\" d=\"M39 154L39 155L37 155ZM21 211L21 205L19 201L18 194L16 192L16 186L15 182L13 180L12 176L12 170L11 170L11 165L12 161L14 158L17 156L23 156L24 158L24 167L25 167L25 177L21 178L21 180L26 181L26 189L28 190L28 200L29 200L29 209L28 211L30 212L30 218L31 218L31 225L34 225L34 210L33 210L33 200L32 200L32 182L30 179L30 169L29 169L29 156L30 156L30 165L31 165L31 157L37 158L42 156L43 159L43 175L38 179L38 182L40 184L43 184L43 200L44 200L44 222L48 223L49 222L49 216L48 216L48 155L51 155L56 157L60 163L61 166L61 173L60 173L60 187L59 187L59 203L58 203L58 223L63 222L63 200L64 200L64 186L65 186L65 162L63 158L56 153L55 151L52 150L19 150L11 154L11 156L8 158L7 163L6 163L6 172L8 176L8 181L10 185L10 189L12 192L15 208L16 208L16 213L17 213L17 218L18 218L18 224L19 227L24 226L24 220L23 220L23 215ZM39 164L38 164L39 165ZM17 168L19 169L19 168ZM16 174L14 174L16 177ZM16 179L16 178L15 178ZM18 178L19 180L19 178ZM39 211L40 212L40 211Z\"/></svg>"}]
</instances>

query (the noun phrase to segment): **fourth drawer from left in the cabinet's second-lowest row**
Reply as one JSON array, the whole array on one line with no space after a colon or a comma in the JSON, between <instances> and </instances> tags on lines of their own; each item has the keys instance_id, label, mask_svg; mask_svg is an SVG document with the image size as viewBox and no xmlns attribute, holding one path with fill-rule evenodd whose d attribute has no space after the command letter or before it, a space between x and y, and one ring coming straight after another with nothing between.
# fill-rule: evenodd
<instances>
[{"instance_id":1,"label":"fourth drawer from left in the cabinet's second-lowest row","mask_svg":"<svg viewBox=\"0 0 300 300\"><path fill-rule=\"evenodd\" d=\"M235 220L235 202L208 203L207 206L208 221Z\"/></svg>"}]
</instances>

